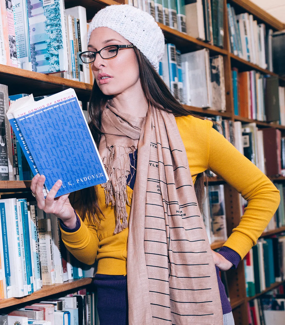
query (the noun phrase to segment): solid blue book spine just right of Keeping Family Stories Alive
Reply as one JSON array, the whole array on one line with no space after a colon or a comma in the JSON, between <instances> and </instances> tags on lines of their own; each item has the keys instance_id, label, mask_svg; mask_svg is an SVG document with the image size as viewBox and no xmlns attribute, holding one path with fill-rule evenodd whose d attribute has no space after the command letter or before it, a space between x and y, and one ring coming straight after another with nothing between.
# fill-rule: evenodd
<instances>
[{"instance_id":1,"label":"solid blue book spine just right of Keeping Family Stories Alive","mask_svg":"<svg viewBox=\"0 0 285 325\"><path fill-rule=\"evenodd\" d=\"M32 275L28 205L26 199L18 199L18 201L21 202L21 208L22 208L22 225L23 225L24 240L25 240L25 256L26 256L26 265L27 265L28 286L29 288L31 288L30 293L33 293L34 286L33 286L33 275Z\"/></svg>"}]
</instances>

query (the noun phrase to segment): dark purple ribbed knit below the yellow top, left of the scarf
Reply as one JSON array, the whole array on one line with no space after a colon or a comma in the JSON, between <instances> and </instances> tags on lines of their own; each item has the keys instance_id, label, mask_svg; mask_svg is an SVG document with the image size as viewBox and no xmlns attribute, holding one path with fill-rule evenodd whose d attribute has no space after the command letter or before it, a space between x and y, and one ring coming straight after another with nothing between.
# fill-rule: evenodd
<instances>
[{"instance_id":1,"label":"dark purple ribbed knit below the yellow top, left of the scarf","mask_svg":"<svg viewBox=\"0 0 285 325\"><path fill-rule=\"evenodd\" d=\"M127 276L96 274L100 325L128 325Z\"/></svg>"}]
</instances>

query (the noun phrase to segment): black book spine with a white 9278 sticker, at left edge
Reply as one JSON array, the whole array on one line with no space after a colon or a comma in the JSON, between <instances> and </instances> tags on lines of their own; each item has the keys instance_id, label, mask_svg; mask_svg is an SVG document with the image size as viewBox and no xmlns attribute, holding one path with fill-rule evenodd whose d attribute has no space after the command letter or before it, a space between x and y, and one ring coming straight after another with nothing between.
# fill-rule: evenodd
<instances>
[{"instance_id":1,"label":"black book spine with a white 9278 sticker, at left edge","mask_svg":"<svg viewBox=\"0 0 285 325\"><path fill-rule=\"evenodd\" d=\"M4 93L0 92L0 180L9 180Z\"/></svg>"}]
</instances>

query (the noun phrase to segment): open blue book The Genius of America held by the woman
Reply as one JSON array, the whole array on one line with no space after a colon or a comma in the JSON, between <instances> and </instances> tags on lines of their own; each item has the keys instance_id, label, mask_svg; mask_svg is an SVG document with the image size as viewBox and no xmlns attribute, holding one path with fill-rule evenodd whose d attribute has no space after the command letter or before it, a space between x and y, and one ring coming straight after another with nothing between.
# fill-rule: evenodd
<instances>
[{"instance_id":1,"label":"open blue book The Genius of America held by the woman","mask_svg":"<svg viewBox=\"0 0 285 325\"><path fill-rule=\"evenodd\" d=\"M19 98L7 117L33 175L45 175L46 191L58 179L62 186L56 197L108 180L73 89L37 102L32 95Z\"/></svg>"}]
</instances>

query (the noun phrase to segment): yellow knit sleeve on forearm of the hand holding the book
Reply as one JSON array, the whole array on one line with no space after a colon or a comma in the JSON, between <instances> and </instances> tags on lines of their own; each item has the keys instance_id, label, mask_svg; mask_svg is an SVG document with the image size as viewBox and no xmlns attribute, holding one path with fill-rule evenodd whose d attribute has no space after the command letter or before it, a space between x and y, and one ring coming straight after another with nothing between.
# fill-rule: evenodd
<instances>
[{"instance_id":1,"label":"yellow knit sleeve on forearm of the hand holding the book","mask_svg":"<svg viewBox=\"0 0 285 325\"><path fill-rule=\"evenodd\" d=\"M86 217L80 219L80 228L75 232L66 232L60 226L61 238L68 251L84 264L92 265L97 256L99 239L97 229Z\"/></svg>"}]
</instances>

